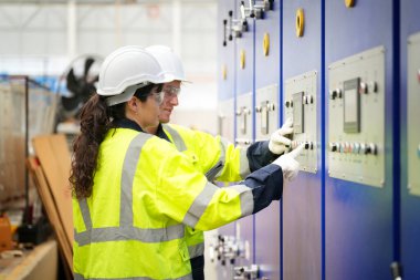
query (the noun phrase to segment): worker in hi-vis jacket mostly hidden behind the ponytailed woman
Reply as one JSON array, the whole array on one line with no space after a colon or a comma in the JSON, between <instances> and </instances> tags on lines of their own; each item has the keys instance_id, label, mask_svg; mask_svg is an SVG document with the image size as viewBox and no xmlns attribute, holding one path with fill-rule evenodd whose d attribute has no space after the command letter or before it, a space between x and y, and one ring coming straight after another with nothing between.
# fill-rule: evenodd
<instances>
[{"instance_id":1,"label":"worker in hi-vis jacket mostly hidden behind the ponytailed woman","mask_svg":"<svg viewBox=\"0 0 420 280\"><path fill-rule=\"evenodd\" d=\"M275 131L270 141L256 142L246 148L234 146L222 137L212 136L197 129L189 129L170 122L171 113L179 104L181 84L186 79L180 58L166 45L150 45L146 50L159 62L165 73L172 80L165 83L164 101L160 104L159 121L164 125L150 127L147 132L170 141L179 152L195 160L195 167L206 174L208 180L224 183L239 182L288 151L292 142L285 135L293 133L293 122L287 120ZM197 94L200 94L199 92ZM204 279L204 235L195 228L186 227L185 240L190 256L192 279Z\"/></svg>"}]
</instances>

